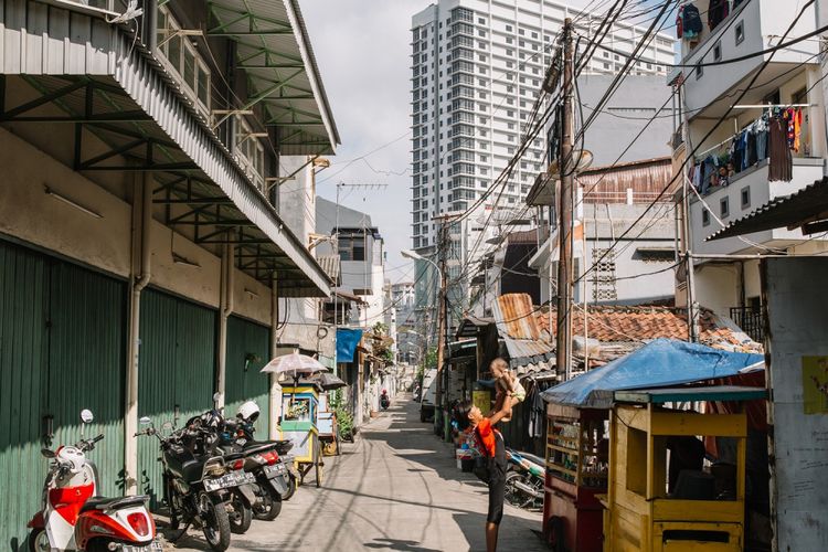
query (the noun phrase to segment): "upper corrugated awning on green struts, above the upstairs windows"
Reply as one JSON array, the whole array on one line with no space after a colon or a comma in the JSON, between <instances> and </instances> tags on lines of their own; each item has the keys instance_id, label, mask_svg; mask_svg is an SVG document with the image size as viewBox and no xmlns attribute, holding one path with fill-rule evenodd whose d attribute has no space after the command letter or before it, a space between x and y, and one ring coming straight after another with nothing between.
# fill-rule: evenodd
<instances>
[{"instance_id":1,"label":"upper corrugated awning on green struts, above the upstairs windows","mask_svg":"<svg viewBox=\"0 0 828 552\"><path fill-rule=\"evenodd\" d=\"M282 153L333 153L340 142L305 20L296 0L212 0L211 36L236 42L247 75L245 108L263 104Z\"/></svg>"}]
</instances>

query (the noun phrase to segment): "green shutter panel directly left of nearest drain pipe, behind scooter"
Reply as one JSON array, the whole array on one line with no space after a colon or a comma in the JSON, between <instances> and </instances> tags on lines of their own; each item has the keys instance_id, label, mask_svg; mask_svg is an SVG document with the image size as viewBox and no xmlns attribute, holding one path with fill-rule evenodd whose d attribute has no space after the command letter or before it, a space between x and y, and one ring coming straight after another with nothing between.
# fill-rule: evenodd
<instances>
[{"instance_id":1,"label":"green shutter panel directly left of nearest drain pipe, behind scooter","mask_svg":"<svg viewBox=\"0 0 828 552\"><path fill-rule=\"evenodd\" d=\"M124 492L126 284L54 262L50 282L49 413L54 443L81 438L81 411L95 415L86 437L103 434L89 458L98 495Z\"/></svg>"}]
</instances>

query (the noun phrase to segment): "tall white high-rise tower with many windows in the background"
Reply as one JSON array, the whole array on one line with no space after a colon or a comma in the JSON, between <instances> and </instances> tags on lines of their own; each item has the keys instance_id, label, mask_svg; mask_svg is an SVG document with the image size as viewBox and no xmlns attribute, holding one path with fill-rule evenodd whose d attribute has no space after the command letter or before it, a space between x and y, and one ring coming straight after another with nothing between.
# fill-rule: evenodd
<instances>
[{"instance_id":1,"label":"tall white high-rise tower with many windows in the background","mask_svg":"<svg viewBox=\"0 0 828 552\"><path fill-rule=\"evenodd\" d=\"M439 217L473 206L518 150L566 18L576 20L577 32L591 35L603 15L543 0L440 0L413 17L412 245L421 255L437 251ZM623 53L631 52L644 33L614 25L606 47L596 51L584 72L615 73L626 61ZM633 73L666 75L673 43L671 36L655 36ZM509 212L521 212L521 200L544 166L540 132L502 193L492 193L443 236L450 241L449 283L482 253L493 220L508 224ZM492 210L506 213L490 217Z\"/></svg>"}]
</instances>

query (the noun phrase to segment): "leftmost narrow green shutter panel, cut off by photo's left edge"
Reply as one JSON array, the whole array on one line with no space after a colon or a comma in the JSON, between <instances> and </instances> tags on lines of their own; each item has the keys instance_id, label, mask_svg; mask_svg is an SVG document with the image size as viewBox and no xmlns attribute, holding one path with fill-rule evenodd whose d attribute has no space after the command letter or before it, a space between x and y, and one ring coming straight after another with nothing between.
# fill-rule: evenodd
<instances>
[{"instance_id":1,"label":"leftmost narrow green shutter panel, cut off by photo's left edge","mask_svg":"<svg viewBox=\"0 0 828 552\"><path fill-rule=\"evenodd\" d=\"M0 543L12 550L25 550L47 466L40 455L47 280L42 256L0 242Z\"/></svg>"}]
</instances>

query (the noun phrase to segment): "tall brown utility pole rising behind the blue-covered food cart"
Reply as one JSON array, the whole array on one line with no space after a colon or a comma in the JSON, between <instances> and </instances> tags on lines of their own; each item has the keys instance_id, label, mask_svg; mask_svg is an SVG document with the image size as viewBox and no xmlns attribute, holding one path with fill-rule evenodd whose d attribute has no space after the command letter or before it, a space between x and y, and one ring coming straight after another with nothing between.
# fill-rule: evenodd
<instances>
[{"instance_id":1,"label":"tall brown utility pole rising behind the blue-covered food cart","mask_svg":"<svg viewBox=\"0 0 828 552\"><path fill-rule=\"evenodd\" d=\"M575 180L573 139L575 109L573 105L573 43L572 20L563 24L563 136L561 140L561 209L558 213L558 374L564 380L571 375L572 349L572 190Z\"/></svg>"}]
</instances>

